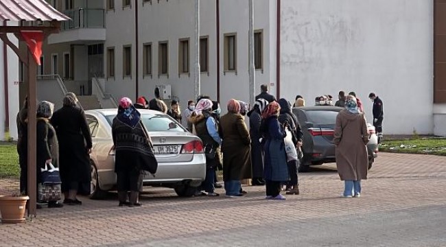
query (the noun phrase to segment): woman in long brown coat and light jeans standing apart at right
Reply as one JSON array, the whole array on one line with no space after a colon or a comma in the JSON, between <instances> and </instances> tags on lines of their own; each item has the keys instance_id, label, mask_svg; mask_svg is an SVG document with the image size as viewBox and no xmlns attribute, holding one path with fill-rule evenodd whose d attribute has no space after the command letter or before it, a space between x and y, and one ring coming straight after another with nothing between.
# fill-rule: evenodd
<instances>
[{"instance_id":1,"label":"woman in long brown coat and light jeans standing apart at right","mask_svg":"<svg viewBox=\"0 0 446 247\"><path fill-rule=\"evenodd\" d=\"M336 166L344 181L342 197L360 197L361 180L367 179L368 131L364 113L353 95L347 97L346 108L336 117L333 142L336 145Z\"/></svg>"}]
</instances>

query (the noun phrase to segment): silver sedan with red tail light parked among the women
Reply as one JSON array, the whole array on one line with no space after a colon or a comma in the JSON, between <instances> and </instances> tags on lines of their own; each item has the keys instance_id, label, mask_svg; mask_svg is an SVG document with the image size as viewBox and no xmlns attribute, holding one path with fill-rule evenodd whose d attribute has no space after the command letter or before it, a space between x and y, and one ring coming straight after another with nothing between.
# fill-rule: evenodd
<instances>
[{"instance_id":1,"label":"silver sedan with red tail light parked among the women","mask_svg":"<svg viewBox=\"0 0 446 247\"><path fill-rule=\"evenodd\" d=\"M193 196L206 176L202 141L187 132L174 119L154 110L139 110L154 144L158 170L143 178L144 185L169 187L178 196ZM91 159L91 198L106 196L115 189L115 153L111 125L117 109L86 110L93 148Z\"/></svg>"}]
</instances>

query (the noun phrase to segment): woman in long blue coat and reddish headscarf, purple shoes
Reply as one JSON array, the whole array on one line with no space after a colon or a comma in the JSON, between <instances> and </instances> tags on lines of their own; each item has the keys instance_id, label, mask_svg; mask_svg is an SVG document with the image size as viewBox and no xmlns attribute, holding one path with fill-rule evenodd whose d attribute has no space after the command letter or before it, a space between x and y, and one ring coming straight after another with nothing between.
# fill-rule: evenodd
<instances>
[{"instance_id":1,"label":"woman in long blue coat and reddish headscarf, purple shoes","mask_svg":"<svg viewBox=\"0 0 446 247\"><path fill-rule=\"evenodd\" d=\"M283 139L286 132L279 123L280 105L271 102L261 115L261 132L263 133L264 176L266 180L266 199L285 200L280 194L281 183L289 179L287 154Z\"/></svg>"}]
</instances>

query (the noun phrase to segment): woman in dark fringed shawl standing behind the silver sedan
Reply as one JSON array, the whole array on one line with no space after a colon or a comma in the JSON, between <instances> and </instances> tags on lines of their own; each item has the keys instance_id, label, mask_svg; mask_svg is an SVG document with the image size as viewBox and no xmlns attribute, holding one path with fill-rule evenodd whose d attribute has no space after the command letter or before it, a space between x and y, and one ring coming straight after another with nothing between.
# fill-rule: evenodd
<instances>
[{"instance_id":1,"label":"woman in dark fringed shawl standing behind the silver sedan","mask_svg":"<svg viewBox=\"0 0 446 247\"><path fill-rule=\"evenodd\" d=\"M152 141L141 121L141 113L132 100L119 100L118 113L112 125L115 145L115 172L119 207L139 207L139 191L143 188L143 167L152 162ZM128 198L130 191L130 198ZM129 199L129 200L128 200Z\"/></svg>"}]
</instances>

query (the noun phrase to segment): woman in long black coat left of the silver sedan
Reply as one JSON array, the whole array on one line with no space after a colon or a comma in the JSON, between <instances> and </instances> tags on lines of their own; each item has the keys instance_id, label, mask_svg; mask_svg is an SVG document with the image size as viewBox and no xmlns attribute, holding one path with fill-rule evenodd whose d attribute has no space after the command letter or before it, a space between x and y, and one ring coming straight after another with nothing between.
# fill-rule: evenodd
<instances>
[{"instance_id":1,"label":"woman in long black coat left of the silver sedan","mask_svg":"<svg viewBox=\"0 0 446 247\"><path fill-rule=\"evenodd\" d=\"M64 204L80 205L78 193L90 194L92 147L91 133L84 110L76 106L77 98L66 95L51 124L56 129L60 150L60 180Z\"/></svg>"}]
</instances>

